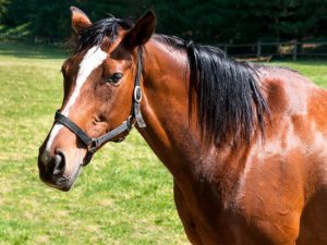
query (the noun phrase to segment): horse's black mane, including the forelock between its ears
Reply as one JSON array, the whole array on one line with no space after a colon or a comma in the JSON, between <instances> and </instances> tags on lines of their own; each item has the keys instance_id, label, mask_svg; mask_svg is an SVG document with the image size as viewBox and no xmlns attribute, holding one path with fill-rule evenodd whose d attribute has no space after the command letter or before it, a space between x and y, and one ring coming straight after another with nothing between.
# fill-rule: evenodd
<instances>
[{"instance_id":1,"label":"horse's black mane, including the forelock between its ears","mask_svg":"<svg viewBox=\"0 0 327 245\"><path fill-rule=\"evenodd\" d=\"M78 50L100 45L105 37L114 42L118 28L130 29L133 23L113 16L98 21L80 36ZM155 35L156 40L184 50L190 69L190 117L196 94L198 122L207 143L220 146L245 140L258 128L265 130L268 106L257 83L257 66L238 62L210 46L201 46L178 37Z\"/></svg>"}]
</instances>

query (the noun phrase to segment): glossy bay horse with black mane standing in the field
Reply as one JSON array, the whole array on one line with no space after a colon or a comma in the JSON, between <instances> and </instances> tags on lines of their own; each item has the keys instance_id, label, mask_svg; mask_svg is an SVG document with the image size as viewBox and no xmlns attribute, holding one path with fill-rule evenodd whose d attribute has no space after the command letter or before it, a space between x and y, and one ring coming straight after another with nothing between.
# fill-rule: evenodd
<instances>
[{"instance_id":1,"label":"glossy bay horse with black mane standing in the field","mask_svg":"<svg viewBox=\"0 0 327 245\"><path fill-rule=\"evenodd\" d=\"M69 191L135 126L173 176L192 244L327 244L327 93L298 72L71 8L76 50L39 149L40 179Z\"/></svg>"}]
</instances>

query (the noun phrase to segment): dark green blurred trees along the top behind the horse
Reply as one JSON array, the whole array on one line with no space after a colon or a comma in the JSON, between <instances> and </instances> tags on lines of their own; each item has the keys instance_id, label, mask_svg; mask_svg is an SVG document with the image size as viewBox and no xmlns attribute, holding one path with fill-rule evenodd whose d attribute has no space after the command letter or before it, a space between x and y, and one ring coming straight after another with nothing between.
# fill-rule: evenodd
<instances>
[{"instance_id":1,"label":"dark green blurred trees along the top behind the horse","mask_svg":"<svg viewBox=\"0 0 327 245\"><path fill-rule=\"evenodd\" d=\"M64 39L71 33L70 5L93 21L107 13L135 21L153 9L157 33L206 44L327 36L327 0L0 0L0 24Z\"/></svg>"}]
</instances>

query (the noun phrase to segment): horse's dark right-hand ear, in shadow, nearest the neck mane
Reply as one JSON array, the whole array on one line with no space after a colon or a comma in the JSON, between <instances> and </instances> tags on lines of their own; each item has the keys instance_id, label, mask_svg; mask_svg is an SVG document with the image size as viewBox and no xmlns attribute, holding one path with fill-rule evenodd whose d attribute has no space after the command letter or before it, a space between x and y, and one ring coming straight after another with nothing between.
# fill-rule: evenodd
<instances>
[{"instance_id":1,"label":"horse's dark right-hand ear, in shadow, nearest the neck mane","mask_svg":"<svg viewBox=\"0 0 327 245\"><path fill-rule=\"evenodd\" d=\"M128 48L144 45L152 37L156 29L157 17L153 11L148 11L140 17L135 25L124 36L123 41Z\"/></svg>"}]
</instances>

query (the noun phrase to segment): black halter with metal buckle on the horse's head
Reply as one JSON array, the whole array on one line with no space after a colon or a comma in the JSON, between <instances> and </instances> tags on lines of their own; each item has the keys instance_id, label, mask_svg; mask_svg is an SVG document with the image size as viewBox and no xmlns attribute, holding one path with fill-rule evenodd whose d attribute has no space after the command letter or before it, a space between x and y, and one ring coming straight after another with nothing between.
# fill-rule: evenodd
<instances>
[{"instance_id":1,"label":"black halter with metal buckle on the horse's head","mask_svg":"<svg viewBox=\"0 0 327 245\"><path fill-rule=\"evenodd\" d=\"M119 126L109 131L107 134L98 137L92 138L89 137L80 126L77 126L74 122L72 122L69 118L61 114L60 112L56 112L55 122L61 123L65 127L68 127L71 132L73 132L87 147L87 155L84 158L83 166L87 166L93 157L93 155L105 143L111 140L112 138L117 137L118 135L132 130L134 126L135 121L137 122L140 127L145 127L145 122L143 120L140 103L142 100L142 89L140 87L140 79L142 74L142 49L137 52L137 73L134 83L134 93L133 93L133 105L131 114L129 118ZM134 121L135 119L135 121ZM126 135L125 135L126 136ZM122 142L125 136L119 138L116 142Z\"/></svg>"}]
</instances>

